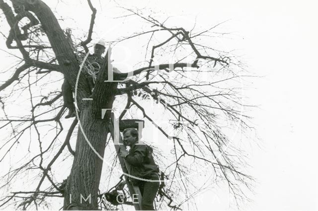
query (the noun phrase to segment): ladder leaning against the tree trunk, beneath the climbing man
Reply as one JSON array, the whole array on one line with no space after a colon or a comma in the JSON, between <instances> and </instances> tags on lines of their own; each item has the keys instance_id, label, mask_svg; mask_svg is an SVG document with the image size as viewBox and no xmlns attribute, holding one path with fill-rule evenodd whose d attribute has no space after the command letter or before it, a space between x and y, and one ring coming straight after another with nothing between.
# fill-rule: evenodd
<instances>
[{"instance_id":1,"label":"ladder leaning against the tree trunk, beneath the climbing man","mask_svg":"<svg viewBox=\"0 0 318 211\"><path fill-rule=\"evenodd\" d=\"M141 120L137 120L137 121L130 120L129 122L126 120L123 120L123 121L121 121L121 123L126 121L126 124L121 124L121 126L119 126L118 123L115 124L115 121L118 121L118 120L115 119L113 112L111 113L110 119L111 119L110 124L109 124L110 135L111 135L113 142L114 142L114 146L115 146L115 150L116 150L116 154L117 154L119 163L121 165L123 172L130 175L130 164L128 162L126 162L126 160L119 155L120 150L126 150L125 146L123 145L123 139L120 135L120 131L125 129L125 128L134 127L134 126L136 126L136 124L138 125L137 121L141 121ZM133 124L131 124L131 123L133 123ZM125 167L125 165L126 165L126 167ZM141 192L139 190L139 187L131 184L129 181L129 176L127 176L126 174L124 174L124 177L126 180L126 184L128 186L130 196L132 197L132 201L133 201L133 205L135 207L135 210L141 210L142 196L141 196ZM136 198L134 196L137 196L138 203L135 203Z\"/></svg>"}]
</instances>

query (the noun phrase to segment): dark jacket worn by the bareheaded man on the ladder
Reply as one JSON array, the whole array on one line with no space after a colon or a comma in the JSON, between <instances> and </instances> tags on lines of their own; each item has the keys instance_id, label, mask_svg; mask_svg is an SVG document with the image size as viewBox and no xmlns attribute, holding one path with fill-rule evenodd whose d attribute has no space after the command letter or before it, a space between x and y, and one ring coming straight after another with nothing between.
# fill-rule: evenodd
<instances>
[{"instance_id":1,"label":"dark jacket worn by the bareheaded man on the ladder","mask_svg":"<svg viewBox=\"0 0 318 211\"><path fill-rule=\"evenodd\" d=\"M130 174L144 179L159 179L159 167L152 155L153 149L145 144L132 145L125 158L130 164ZM135 179L131 179L135 180Z\"/></svg>"}]
</instances>

